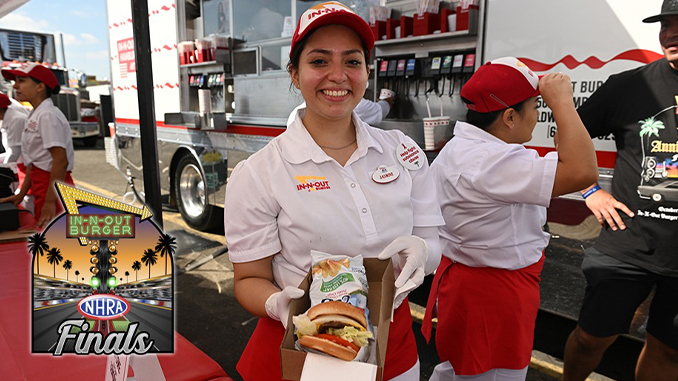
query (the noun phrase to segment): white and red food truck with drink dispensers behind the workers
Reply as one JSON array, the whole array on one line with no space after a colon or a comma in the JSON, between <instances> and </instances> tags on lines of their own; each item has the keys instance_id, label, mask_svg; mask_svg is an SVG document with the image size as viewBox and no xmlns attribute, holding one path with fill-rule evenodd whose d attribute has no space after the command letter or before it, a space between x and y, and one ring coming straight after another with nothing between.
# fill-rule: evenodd
<instances>
[{"instance_id":1,"label":"white and red food truck with drink dispensers behind the workers","mask_svg":"<svg viewBox=\"0 0 678 381\"><path fill-rule=\"evenodd\" d=\"M303 101L285 68L299 15L319 3L148 1L161 189L188 225L222 223L232 169L285 131ZM435 127L429 159L452 138L454 122L464 120L460 89L484 62L511 55L537 74L564 72L578 106L611 74L662 57L657 26L641 22L660 1L461 0L421 10L415 0L386 0L372 12L379 2L344 3L369 19L377 37L365 97L376 100L381 88L397 93L379 127L399 129L424 147L423 118L451 118ZM130 3L108 0L107 8L113 162L141 177L137 83L144 78L136 76ZM545 154L554 149L556 126L546 104L539 111L526 146ZM613 138L594 144L601 185L609 187ZM562 200L583 205L578 194Z\"/></svg>"}]
</instances>

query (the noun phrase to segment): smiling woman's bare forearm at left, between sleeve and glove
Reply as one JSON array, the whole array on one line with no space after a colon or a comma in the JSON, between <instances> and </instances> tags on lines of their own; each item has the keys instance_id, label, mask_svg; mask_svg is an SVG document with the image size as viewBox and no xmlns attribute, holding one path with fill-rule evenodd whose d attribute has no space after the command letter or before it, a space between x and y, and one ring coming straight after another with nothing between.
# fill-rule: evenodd
<instances>
[{"instance_id":1,"label":"smiling woman's bare forearm at left, between sleeve and glove","mask_svg":"<svg viewBox=\"0 0 678 381\"><path fill-rule=\"evenodd\" d=\"M273 284L273 256L233 263L235 297L247 312L268 317L266 300L280 289Z\"/></svg>"}]
</instances>

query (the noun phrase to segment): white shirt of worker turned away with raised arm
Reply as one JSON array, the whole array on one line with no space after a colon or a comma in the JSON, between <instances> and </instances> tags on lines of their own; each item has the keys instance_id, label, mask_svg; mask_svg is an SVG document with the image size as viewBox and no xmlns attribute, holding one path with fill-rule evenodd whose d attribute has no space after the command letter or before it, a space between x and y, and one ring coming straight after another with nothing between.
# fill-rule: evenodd
<instances>
[{"instance_id":1,"label":"white shirt of worker turned away with raised arm","mask_svg":"<svg viewBox=\"0 0 678 381\"><path fill-rule=\"evenodd\" d=\"M445 226L443 255L471 267L520 269L548 245L542 231L558 154L536 151L457 122L431 165Z\"/></svg>"}]
</instances>

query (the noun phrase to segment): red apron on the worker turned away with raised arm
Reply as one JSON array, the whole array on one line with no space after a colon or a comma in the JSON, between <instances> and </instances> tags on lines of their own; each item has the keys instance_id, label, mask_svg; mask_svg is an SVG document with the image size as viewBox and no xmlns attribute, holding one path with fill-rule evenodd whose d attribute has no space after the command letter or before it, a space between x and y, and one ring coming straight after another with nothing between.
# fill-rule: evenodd
<instances>
[{"instance_id":1,"label":"red apron on the worker turned away with raised arm","mask_svg":"<svg viewBox=\"0 0 678 381\"><path fill-rule=\"evenodd\" d=\"M431 337L438 300L436 348L458 375L529 365L544 256L519 270L468 267L443 256L431 286L422 334Z\"/></svg>"}]
</instances>

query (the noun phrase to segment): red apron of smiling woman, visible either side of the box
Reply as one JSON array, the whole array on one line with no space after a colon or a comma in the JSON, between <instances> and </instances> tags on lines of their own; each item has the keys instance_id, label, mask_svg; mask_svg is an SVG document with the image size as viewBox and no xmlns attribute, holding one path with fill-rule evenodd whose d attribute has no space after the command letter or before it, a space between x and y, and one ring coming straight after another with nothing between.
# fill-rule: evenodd
<instances>
[{"instance_id":1,"label":"red apron of smiling woman, visible either side of the box","mask_svg":"<svg viewBox=\"0 0 678 381\"><path fill-rule=\"evenodd\" d=\"M236 369L246 381L281 380L280 360L262 366L262 359L280 359L280 344L285 329L282 323L259 318ZM384 380L394 378L412 368L418 360L417 343L412 332L412 316L407 299L395 310L388 331Z\"/></svg>"}]
</instances>

